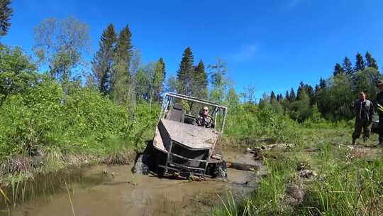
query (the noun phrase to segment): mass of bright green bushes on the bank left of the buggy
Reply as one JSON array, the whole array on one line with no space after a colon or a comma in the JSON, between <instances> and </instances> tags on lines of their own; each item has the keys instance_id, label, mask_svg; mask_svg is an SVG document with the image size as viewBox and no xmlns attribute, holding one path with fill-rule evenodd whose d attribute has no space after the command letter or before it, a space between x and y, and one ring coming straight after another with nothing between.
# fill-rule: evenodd
<instances>
[{"instance_id":1,"label":"mass of bright green bushes on the bank left of the buggy","mask_svg":"<svg viewBox=\"0 0 383 216\"><path fill-rule=\"evenodd\" d=\"M112 140L121 141L122 149L138 148L150 138L148 131L157 123L156 104L138 104L129 115L93 88L77 81L63 88L38 75L19 48L2 46L0 55L0 158L36 148L108 153L111 146L103 144L115 143Z\"/></svg>"}]
</instances>

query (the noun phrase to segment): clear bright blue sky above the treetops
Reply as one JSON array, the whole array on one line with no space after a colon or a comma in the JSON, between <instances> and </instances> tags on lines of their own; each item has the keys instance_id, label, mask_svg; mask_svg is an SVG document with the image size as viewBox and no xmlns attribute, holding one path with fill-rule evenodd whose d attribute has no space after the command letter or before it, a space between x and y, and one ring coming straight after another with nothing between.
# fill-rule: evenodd
<instances>
[{"instance_id":1,"label":"clear bright blue sky above the treetops","mask_svg":"<svg viewBox=\"0 0 383 216\"><path fill-rule=\"evenodd\" d=\"M109 23L129 24L147 63L162 57L175 74L190 46L195 63L228 63L238 91L284 94L300 81L315 85L347 55L370 50L383 64L383 1L101 1L13 0L9 34L1 41L33 46L33 27L48 17L75 16L91 27L93 50Z\"/></svg>"}]
</instances>

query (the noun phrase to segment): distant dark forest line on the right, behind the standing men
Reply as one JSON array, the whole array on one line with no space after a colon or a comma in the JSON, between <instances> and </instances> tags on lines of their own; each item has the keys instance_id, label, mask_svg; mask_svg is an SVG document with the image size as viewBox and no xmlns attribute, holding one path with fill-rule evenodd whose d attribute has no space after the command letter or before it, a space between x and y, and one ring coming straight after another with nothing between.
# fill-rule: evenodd
<instances>
[{"instance_id":1,"label":"distant dark forest line on the right, behind the standing men","mask_svg":"<svg viewBox=\"0 0 383 216\"><path fill-rule=\"evenodd\" d=\"M358 98L357 95L361 91L367 93L367 99L374 102L378 92L375 85L377 80L382 77L377 70L376 60L370 52L366 53L367 68L360 53L357 53L356 59L355 68L353 68L348 57L344 58L343 65L336 63L333 76L328 80L321 77L315 90L310 85L301 82L296 95L292 88L290 92L287 92L285 99L281 99L282 97L277 95L277 102L282 105L285 113L290 114L293 119L299 122L304 122L311 117L313 106L318 108L321 117L325 119L335 121L352 119L354 116L350 104ZM309 97L309 106L306 98L301 101L303 90ZM274 98L273 94L271 96ZM265 104L265 98L260 100L260 107L270 108ZM279 104L274 105L273 109L279 110Z\"/></svg>"}]
</instances>

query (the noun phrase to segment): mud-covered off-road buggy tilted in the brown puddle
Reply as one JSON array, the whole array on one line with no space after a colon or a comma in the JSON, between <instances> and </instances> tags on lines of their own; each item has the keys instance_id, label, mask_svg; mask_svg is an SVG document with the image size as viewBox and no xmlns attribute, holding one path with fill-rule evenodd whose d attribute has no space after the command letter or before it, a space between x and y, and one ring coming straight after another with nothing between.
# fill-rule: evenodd
<instances>
[{"instance_id":1,"label":"mud-covered off-road buggy tilted in the brown puddle","mask_svg":"<svg viewBox=\"0 0 383 216\"><path fill-rule=\"evenodd\" d=\"M209 127L199 126L199 112L209 107ZM165 93L155 136L136 159L133 172L188 178L226 178L226 161L217 142L223 134L227 108L177 93Z\"/></svg>"}]
</instances>

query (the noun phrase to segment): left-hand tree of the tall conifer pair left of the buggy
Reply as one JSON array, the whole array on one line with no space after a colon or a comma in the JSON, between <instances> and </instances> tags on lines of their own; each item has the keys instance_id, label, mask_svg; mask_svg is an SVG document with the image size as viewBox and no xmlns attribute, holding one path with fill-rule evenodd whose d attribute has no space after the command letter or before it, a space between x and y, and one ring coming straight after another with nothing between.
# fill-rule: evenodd
<instances>
[{"instance_id":1,"label":"left-hand tree of the tall conifer pair left of the buggy","mask_svg":"<svg viewBox=\"0 0 383 216\"><path fill-rule=\"evenodd\" d=\"M91 62L96 86L104 95L109 93L111 69L113 66L113 51L116 41L117 35L114 26L113 24L109 24L101 35L99 50Z\"/></svg>"}]
</instances>

